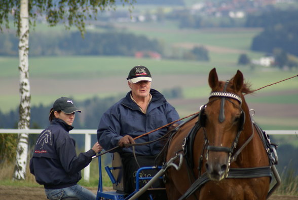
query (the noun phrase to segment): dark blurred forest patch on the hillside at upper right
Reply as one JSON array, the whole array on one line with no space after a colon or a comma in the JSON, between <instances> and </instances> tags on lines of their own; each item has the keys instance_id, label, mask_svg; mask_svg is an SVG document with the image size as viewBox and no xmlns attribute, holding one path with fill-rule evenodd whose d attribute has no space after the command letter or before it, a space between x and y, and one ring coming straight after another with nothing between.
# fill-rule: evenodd
<instances>
[{"instance_id":1,"label":"dark blurred forest patch on the hillside at upper right","mask_svg":"<svg viewBox=\"0 0 298 200\"><path fill-rule=\"evenodd\" d=\"M277 49L298 56L298 10L276 10L249 16L247 27L264 27L251 44L251 50L274 53Z\"/></svg>"}]
</instances>

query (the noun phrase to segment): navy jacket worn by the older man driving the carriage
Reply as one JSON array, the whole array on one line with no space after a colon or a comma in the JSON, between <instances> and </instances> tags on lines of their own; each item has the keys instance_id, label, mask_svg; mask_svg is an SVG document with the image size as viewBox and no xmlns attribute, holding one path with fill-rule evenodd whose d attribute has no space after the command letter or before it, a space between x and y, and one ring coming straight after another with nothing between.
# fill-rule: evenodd
<instances>
[{"instance_id":1,"label":"navy jacket worn by the older man driving the carriage","mask_svg":"<svg viewBox=\"0 0 298 200\"><path fill-rule=\"evenodd\" d=\"M151 89L150 93L152 100L147 107L146 114L142 113L138 105L132 101L130 91L102 115L97 129L97 140L105 150L118 146L118 141L125 135L135 138L179 119L175 108L166 101L160 92ZM162 137L166 131L166 127L162 128L135 140L135 142L143 143L156 140ZM160 141L135 146L135 152L139 155L156 155L162 146ZM132 148L122 148L120 153L132 153Z\"/></svg>"}]
</instances>

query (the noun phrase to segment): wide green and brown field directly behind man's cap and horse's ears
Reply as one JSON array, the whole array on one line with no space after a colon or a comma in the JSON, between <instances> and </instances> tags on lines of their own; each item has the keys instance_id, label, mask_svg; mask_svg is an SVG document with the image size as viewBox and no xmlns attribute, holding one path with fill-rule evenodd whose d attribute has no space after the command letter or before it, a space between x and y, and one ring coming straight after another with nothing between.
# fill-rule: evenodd
<instances>
[{"instance_id":1,"label":"wide green and brown field directly behind man's cap and horse's ears","mask_svg":"<svg viewBox=\"0 0 298 200\"><path fill-rule=\"evenodd\" d=\"M13 67L17 58L1 58L0 66L5 73L0 75L0 105L2 112L16 109L19 104L18 72ZM106 97L128 91L126 76L132 66L143 64L150 68L153 88L163 91L180 87L184 100L169 101L180 116L196 112L206 103L210 88L207 83L210 63L135 59L132 57L41 57L30 58L30 85L32 105L49 105L62 95L77 100L94 96ZM232 78L240 69L253 89L294 76L297 72L285 72L249 66L219 66L220 80ZM255 119L266 129L298 129L297 119L298 78L293 78L247 95L247 102L258 115ZM185 103L194 99L191 103ZM196 101L195 99L198 99Z\"/></svg>"}]
</instances>

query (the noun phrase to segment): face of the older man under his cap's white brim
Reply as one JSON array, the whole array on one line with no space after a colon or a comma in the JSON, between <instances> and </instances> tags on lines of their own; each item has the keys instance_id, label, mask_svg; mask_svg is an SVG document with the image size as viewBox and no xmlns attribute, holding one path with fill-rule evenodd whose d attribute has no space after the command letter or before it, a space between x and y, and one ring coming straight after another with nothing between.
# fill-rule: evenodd
<instances>
[{"instance_id":1,"label":"face of the older man under his cap's white brim","mask_svg":"<svg viewBox=\"0 0 298 200\"><path fill-rule=\"evenodd\" d=\"M128 82L128 86L131 88L133 98L143 98L149 95L151 89L150 81L139 81L137 83Z\"/></svg>"}]
</instances>

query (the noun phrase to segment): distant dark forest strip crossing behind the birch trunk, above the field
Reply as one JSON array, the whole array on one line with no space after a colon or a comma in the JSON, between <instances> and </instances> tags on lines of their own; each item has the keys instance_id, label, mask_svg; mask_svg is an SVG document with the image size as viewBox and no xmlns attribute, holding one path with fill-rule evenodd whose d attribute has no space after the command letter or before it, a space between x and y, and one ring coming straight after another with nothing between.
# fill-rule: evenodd
<instances>
[{"instance_id":1,"label":"distant dark forest strip crossing behind the birch trunk, above the field","mask_svg":"<svg viewBox=\"0 0 298 200\"><path fill-rule=\"evenodd\" d=\"M46 38L46 40L45 40ZM108 31L104 33L87 32L84 38L81 33L57 34L53 32L33 32L29 36L30 56L63 56L63 55L103 55L134 56L136 52L157 52L168 59L188 59L209 61L209 52L203 46L182 53L173 48L169 54L164 53L164 44L145 36L136 36L126 32ZM0 55L17 56L18 38L12 34L2 34Z\"/></svg>"}]
</instances>

